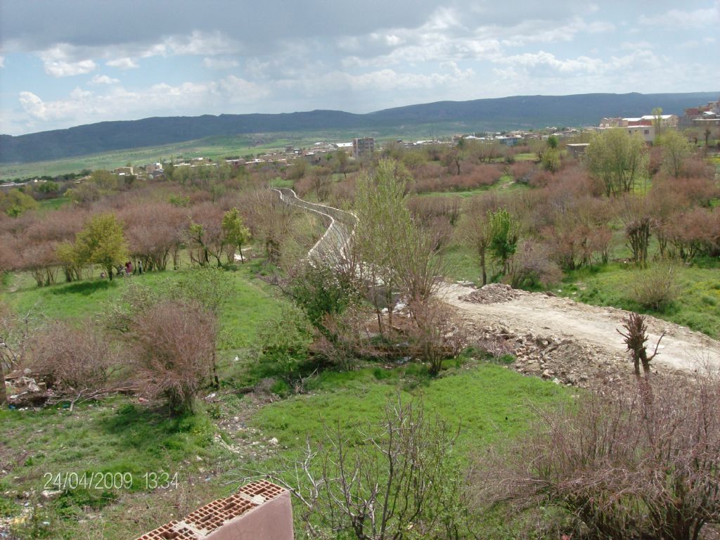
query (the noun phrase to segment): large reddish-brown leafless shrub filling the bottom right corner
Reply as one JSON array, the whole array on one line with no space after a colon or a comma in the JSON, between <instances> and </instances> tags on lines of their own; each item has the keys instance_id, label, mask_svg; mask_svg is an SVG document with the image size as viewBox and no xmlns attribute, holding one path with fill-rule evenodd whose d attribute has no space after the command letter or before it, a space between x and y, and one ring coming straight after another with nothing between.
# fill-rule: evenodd
<instances>
[{"instance_id":1,"label":"large reddish-brown leafless shrub filling the bottom right corner","mask_svg":"<svg viewBox=\"0 0 720 540\"><path fill-rule=\"evenodd\" d=\"M511 451L477 460L474 511L559 507L575 522L561 532L582 538L703 538L720 522L720 380L705 375L583 393L537 415Z\"/></svg>"}]
</instances>

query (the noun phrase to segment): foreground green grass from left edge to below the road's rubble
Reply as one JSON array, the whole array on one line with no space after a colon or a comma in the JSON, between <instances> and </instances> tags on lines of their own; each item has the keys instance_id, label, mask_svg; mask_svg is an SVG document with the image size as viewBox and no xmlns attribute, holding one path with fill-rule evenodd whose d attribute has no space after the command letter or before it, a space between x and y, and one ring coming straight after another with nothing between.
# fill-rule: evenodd
<instances>
[{"instance_id":1,"label":"foreground green grass from left edge to below the road's rubble","mask_svg":"<svg viewBox=\"0 0 720 540\"><path fill-rule=\"evenodd\" d=\"M428 413L459 426L456 456L462 462L471 451L498 438L521 436L530 407L550 405L569 395L555 384L492 364L453 367L438 379L429 378L416 364L325 372L308 385L308 395L261 408L232 392L221 392L194 417L179 419L168 419L129 397L81 405L73 411L1 410L6 437L0 443L0 458L9 463L6 467L13 479L0 481L2 490L36 494L43 488L54 490L58 474L63 482L83 474L97 479L99 473L103 478L117 474L116 482L127 481L114 486L110 482L109 489L104 489L105 480L98 489L68 487L15 530L22 538L48 534L68 540L132 538L181 513L172 505L183 496L188 504L200 505L230 494L248 470L274 472L283 459L300 455L307 436L321 441L325 429L338 423L345 436L356 436L359 424L380 420L385 400L397 392L406 398L422 397ZM232 422L238 414L247 420L247 427ZM264 446L254 446L253 441L266 445L271 437L278 438L279 451L261 459L267 454L257 450ZM240 454L231 449L238 447L243 449ZM179 486L150 490L148 472L168 473L171 478L178 473ZM32 496L30 500L35 502ZM14 496L0 495L0 514L17 515L19 503ZM100 527L103 522L107 526Z\"/></svg>"}]
</instances>

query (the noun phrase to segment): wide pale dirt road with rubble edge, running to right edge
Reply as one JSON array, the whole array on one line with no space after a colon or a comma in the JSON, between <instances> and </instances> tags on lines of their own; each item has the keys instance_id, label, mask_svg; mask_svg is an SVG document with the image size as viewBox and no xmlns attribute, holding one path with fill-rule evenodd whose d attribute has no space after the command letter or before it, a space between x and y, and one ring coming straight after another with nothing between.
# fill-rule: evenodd
<instances>
[{"instance_id":1,"label":"wide pale dirt road with rubble edge, running to right edge","mask_svg":"<svg viewBox=\"0 0 720 540\"><path fill-rule=\"evenodd\" d=\"M628 315L614 307L595 307L544 293L528 293L492 284L482 289L448 284L441 292L457 307L477 335L500 333L514 352L536 364L526 372L549 372L546 378L581 377L588 371L587 359L606 371L631 369L629 356L617 329ZM693 371L706 365L720 368L720 342L689 328L647 317L649 346L665 331L653 360L657 372ZM650 351L652 352L652 348ZM563 356L567 358L561 358ZM523 371L523 369L521 369ZM591 370L592 371L592 370ZM587 375L586 375L587 377ZM572 377L570 377L570 382Z\"/></svg>"}]
</instances>

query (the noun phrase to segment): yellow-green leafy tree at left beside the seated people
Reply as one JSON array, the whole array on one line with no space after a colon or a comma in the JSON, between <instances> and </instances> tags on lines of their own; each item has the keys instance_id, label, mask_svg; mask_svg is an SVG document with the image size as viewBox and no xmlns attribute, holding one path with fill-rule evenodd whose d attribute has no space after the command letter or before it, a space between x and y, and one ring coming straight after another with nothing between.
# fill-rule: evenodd
<instances>
[{"instance_id":1,"label":"yellow-green leafy tree at left beside the seated people","mask_svg":"<svg viewBox=\"0 0 720 540\"><path fill-rule=\"evenodd\" d=\"M112 269L127 258L122 222L112 212L96 214L75 238L78 261L99 264L112 280Z\"/></svg>"}]
</instances>

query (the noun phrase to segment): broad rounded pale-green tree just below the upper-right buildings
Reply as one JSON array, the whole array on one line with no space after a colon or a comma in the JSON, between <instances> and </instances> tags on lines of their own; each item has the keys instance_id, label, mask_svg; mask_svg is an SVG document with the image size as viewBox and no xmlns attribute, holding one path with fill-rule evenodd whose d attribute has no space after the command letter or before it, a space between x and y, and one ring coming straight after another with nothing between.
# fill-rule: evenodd
<instances>
[{"instance_id":1,"label":"broad rounded pale-green tree just below the upper-right buildings","mask_svg":"<svg viewBox=\"0 0 720 540\"><path fill-rule=\"evenodd\" d=\"M639 134L622 129L604 130L595 135L585 152L590 174L603 182L605 192L618 195L631 192L635 181L647 174L647 147Z\"/></svg>"}]
</instances>

